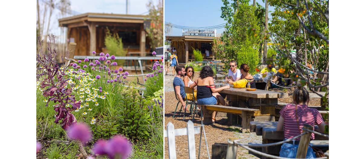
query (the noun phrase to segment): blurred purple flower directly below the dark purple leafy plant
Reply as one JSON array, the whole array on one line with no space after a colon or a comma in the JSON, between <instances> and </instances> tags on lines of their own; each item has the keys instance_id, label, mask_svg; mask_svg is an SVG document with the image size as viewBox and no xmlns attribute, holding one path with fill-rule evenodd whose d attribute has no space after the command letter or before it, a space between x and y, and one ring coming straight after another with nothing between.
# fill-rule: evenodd
<instances>
[{"instance_id":1,"label":"blurred purple flower directly below the dark purple leafy plant","mask_svg":"<svg viewBox=\"0 0 357 159\"><path fill-rule=\"evenodd\" d=\"M92 131L89 126L84 123L72 124L72 126L67 129L67 135L70 139L81 141L82 144L92 139Z\"/></svg>"}]
</instances>

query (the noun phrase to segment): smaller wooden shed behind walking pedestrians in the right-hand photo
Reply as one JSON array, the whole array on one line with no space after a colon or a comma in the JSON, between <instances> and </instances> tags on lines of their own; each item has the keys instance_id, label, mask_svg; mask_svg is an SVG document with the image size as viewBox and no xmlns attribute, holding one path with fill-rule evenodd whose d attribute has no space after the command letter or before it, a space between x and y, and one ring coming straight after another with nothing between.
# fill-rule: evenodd
<instances>
[{"instance_id":1,"label":"smaller wooden shed behind walking pedestrians in the right-hand photo","mask_svg":"<svg viewBox=\"0 0 357 159\"><path fill-rule=\"evenodd\" d=\"M215 59L215 53L212 51L212 42L218 37L208 36L166 36L166 41L170 42L170 47L176 48L179 63L187 64L193 60L193 49L201 50L203 57L206 56L205 50L210 51L210 57ZM193 49L192 49L193 48Z\"/></svg>"}]
</instances>

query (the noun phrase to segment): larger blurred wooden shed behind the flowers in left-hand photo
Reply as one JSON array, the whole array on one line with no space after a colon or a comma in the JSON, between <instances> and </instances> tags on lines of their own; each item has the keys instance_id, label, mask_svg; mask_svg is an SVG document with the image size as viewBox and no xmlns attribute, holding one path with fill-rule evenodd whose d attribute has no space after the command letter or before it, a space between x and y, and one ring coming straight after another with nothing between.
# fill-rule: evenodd
<instances>
[{"instance_id":1,"label":"larger blurred wooden shed behind the flowers in left-hand photo","mask_svg":"<svg viewBox=\"0 0 357 159\"><path fill-rule=\"evenodd\" d=\"M124 49L142 56L150 52L150 41L145 28L150 21L145 15L85 13L59 19L59 26L67 27L67 44L76 43L74 55L92 55L92 51L106 52L106 28L122 38Z\"/></svg>"}]
</instances>

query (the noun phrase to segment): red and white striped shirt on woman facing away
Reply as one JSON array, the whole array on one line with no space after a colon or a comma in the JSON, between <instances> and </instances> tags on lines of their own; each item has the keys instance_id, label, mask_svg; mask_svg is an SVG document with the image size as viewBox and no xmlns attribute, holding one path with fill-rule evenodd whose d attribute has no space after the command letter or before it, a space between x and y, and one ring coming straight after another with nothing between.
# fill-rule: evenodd
<instances>
[{"instance_id":1,"label":"red and white striped shirt on woman facing away","mask_svg":"<svg viewBox=\"0 0 357 159\"><path fill-rule=\"evenodd\" d=\"M297 105L297 116L299 120L299 127L296 121L296 105L287 104L280 110L280 116L284 118L284 137L285 139L293 138L302 133L304 124L315 126L321 124L323 118L317 109L308 108L307 105ZM315 139L315 134L311 134L311 140ZM297 140L300 140L298 138Z\"/></svg>"}]
</instances>

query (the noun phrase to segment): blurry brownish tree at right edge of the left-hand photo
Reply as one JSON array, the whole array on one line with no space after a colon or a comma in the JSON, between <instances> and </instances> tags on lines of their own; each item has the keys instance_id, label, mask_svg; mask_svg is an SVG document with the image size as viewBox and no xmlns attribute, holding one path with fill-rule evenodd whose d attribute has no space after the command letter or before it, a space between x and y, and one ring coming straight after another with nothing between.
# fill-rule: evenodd
<instances>
[{"instance_id":1,"label":"blurry brownish tree at right edge of the left-hand photo","mask_svg":"<svg viewBox=\"0 0 357 159\"><path fill-rule=\"evenodd\" d=\"M147 36L150 38L150 47L155 49L164 46L164 2L159 0L157 6L150 1L146 6L149 8L150 28L146 29Z\"/></svg>"}]
</instances>

